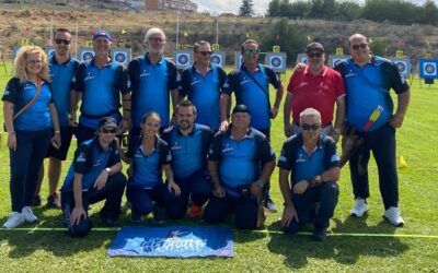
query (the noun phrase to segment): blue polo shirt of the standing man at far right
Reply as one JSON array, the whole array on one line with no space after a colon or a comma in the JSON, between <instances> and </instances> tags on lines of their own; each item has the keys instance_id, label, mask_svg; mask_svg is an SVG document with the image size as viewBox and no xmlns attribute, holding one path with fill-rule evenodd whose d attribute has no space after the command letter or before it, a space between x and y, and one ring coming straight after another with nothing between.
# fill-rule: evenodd
<instances>
[{"instance_id":1,"label":"blue polo shirt of the standing man at far right","mask_svg":"<svg viewBox=\"0 0 438 273\"><path fill-rule=\"evenodd\" d=\"M337 64L335 69L345 81L347 121L359 131L374 131L391 118L394 108L391 88L396 94L410 88L396 66L378 56L372 56L370 62L362 68L350 58ZM374 116L376 120L369 123L371 116Z\"/></svg>"}]
</instances>

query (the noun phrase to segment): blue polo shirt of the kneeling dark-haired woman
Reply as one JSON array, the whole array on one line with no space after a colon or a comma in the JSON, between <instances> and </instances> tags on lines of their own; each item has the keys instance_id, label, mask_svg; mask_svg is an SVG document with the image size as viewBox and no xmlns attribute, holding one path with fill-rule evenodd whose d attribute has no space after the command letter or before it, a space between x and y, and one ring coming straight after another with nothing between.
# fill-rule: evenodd
<instances>
[{"instance_id":1,"label":"blue polo shirt of the kneeling dark-haired woman","mask_svg":"<svg viewBox=\"0 0 438 273\"><path fill-rule=\"evenodd\" d=\"M162 182L162 166L170 164L171 161L172 155L168 143L161 139L157 139L155 146L149 155L145 154L142 145L137 146L132 156L132 183L143 189L152 189L157 183Z\"/></svg>"}]
</instances>

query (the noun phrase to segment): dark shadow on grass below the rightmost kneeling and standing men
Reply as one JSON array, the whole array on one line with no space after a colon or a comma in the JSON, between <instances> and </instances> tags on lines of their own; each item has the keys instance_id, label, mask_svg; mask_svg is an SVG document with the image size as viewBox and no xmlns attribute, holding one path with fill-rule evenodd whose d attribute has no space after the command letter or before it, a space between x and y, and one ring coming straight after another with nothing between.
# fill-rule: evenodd
<instances>
[{"instance_id":1,"label":"dark shadow on grass below the rightmost kneeling and standing men","mask_svg":"<svg viewBox=\"0 0 438 273\"><path fill-rule=\"evenodd\" d=\"M366 237L341 235L348 234L393 234L395 227L381 221L376 226L367 226L366 219L348 217L345 222L334 219L336 227L328 232L325 242L315 241L312 237L312 226L306 226L303 233L287 235L273 233L268 248L272 252L285 257L285 264L293 269L306 268L309 259L335 260L343 264L355 264L360 257L397 257L408 250L408 246L396 237ZM358 232L354 226L366 229ZM280 230L278 222L268 227L270 230ZM333 234L331 236L331 234ZM337 235L336 235L337 234Z\"/></svg>"}]
</instances>

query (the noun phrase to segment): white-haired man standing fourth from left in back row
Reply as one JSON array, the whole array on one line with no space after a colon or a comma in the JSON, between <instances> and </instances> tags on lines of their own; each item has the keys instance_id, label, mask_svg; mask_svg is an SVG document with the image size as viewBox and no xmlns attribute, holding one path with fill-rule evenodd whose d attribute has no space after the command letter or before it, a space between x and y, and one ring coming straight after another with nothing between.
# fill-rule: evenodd
<instances>
[{"instance_id":1,"label":"white-haired man standing fourth from left in back row","mask_svg":"<svg viewBox=\"0 0 438 273\"><path fill-rule=\"evenodd\" d=\"M145 36L147 52L128 64L132 94L132 130L129 132L129 147L136 146L140 136L141 118L148 111L155 111L161 118L161 130L170 126L170 98L173 111L177 105L176 67L163 57L165 35L160 28L150 28Z\"/></svg>"}]
</instances>

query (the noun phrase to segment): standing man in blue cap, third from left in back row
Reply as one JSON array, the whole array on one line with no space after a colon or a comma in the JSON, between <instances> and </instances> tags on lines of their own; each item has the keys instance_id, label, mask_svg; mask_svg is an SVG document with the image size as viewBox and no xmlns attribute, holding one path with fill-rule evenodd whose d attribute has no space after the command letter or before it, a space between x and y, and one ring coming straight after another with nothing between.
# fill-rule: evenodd
<instances>
[{"instance_id":1,"label":"standing man in blue cap, third from left in back row","mask_svg":"<svg viewBox=\"0 0 438 273\"><path fill-rule=\"evenodd\" d=\"M111 35L97 31L93 36L94 58L78 68L74 90L82 93L81 116L77 128L78 143L93 138L102 117L113 117L122 132L130 127L130 93L125 68L110 58ZM123 98L123 118L120 96ZM76 107L76 105L74 105Z\"/></svg>"}]
</instances>

